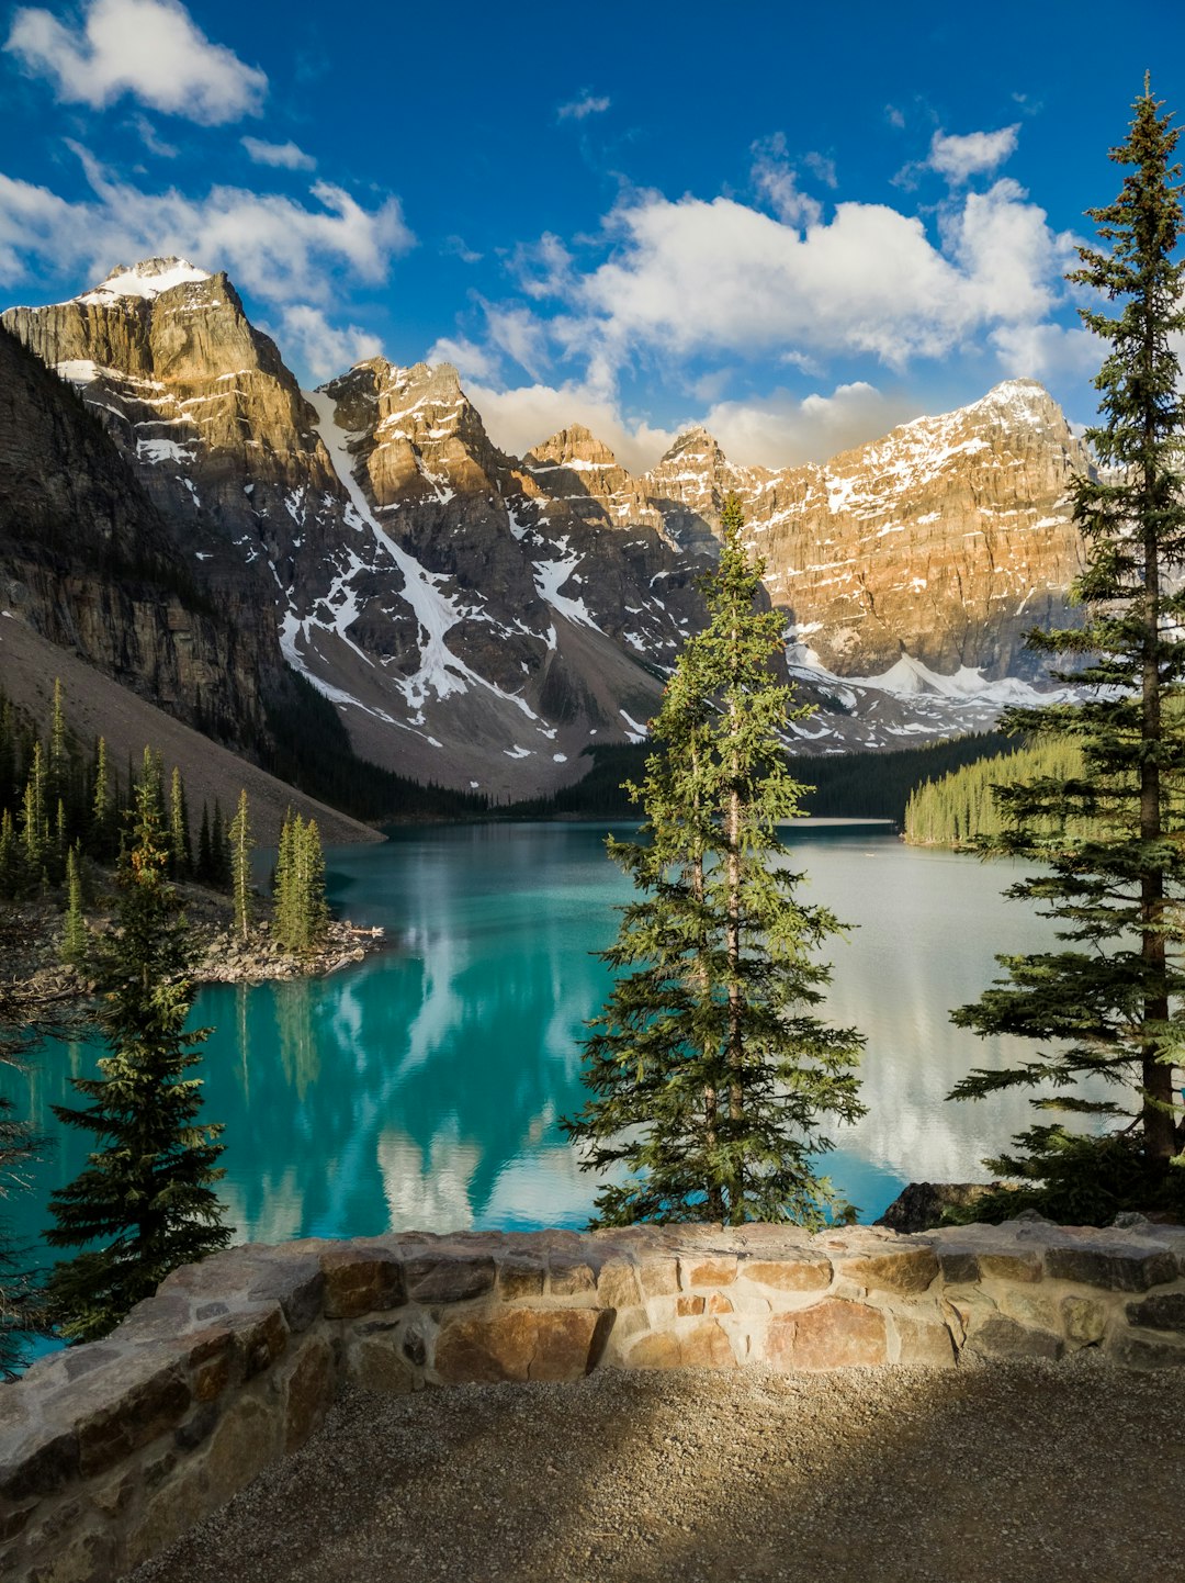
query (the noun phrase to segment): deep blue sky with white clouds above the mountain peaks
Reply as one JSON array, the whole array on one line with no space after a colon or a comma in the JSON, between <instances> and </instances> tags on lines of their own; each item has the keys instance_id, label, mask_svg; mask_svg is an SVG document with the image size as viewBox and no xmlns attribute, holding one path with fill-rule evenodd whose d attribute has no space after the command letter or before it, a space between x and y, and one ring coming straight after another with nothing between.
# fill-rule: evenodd
<instances>
[{"instance_id":1,"label":"deep blue sky with white clouds above the mountain peaks","mask_svg":"<svg viewBox=\"0 0 1185 1583\"><path fill-rule=\"evenodd\" d=\"M957 13L957 14L956 14ZM0 301L226 269L307 383L457 363L494 438L707 423L823 459L1041 378L1107 147L1185 116L1185 6L79 0L0 17Z\"/></svg>"}]
</instances>

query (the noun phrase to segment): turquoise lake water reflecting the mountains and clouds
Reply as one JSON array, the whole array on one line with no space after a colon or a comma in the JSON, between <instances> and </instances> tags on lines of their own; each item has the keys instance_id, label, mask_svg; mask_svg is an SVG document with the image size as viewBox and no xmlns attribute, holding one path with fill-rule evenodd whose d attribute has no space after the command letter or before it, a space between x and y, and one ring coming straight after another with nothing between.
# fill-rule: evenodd
<instances>
[{"instance_id":1,"label":"turquoise lake water reflecting the mountains and clouds","mask_svg":"<svg viewBox=\"0 0 1185 1583\"><path fill-rule=\"evenodd\" d=\"M584 1102L579 1040L601 1005L615 905L631 894L604 825L440 825L329 858L331 901L380 923L389 950L331 978L204 989L206 1119L225 1122L226 1219L239 1241L384 1230L581 1227L596 1183L557 1119ZM840 1129L826 1170L870 1220L911 1179L982 1178L979 1160L1030 1121L1024 1095L946 1103L1003 1042L951 1027L948 1010L994 975L994 956L1051 940L1001 899L1017 869L905 847L869 828L786 831L804 896L856 924L832 940L829 1015L869 1038L869 1114ZM49 1046L19 1113L57 1137L33 1192L9 1200L21 1235L47 1224L51 1189L87 1137L54 1121L97 1050Z\"/></svg>"}]
</instances>

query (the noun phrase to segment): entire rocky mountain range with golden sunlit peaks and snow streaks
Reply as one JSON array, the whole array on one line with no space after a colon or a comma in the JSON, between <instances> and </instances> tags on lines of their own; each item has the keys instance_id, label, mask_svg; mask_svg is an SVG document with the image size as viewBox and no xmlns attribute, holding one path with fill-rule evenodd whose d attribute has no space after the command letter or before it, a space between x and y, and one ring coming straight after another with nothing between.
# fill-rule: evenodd
<instances>
[{"instance_id":1,"label":"entire rocky mountain range with golden sunlit peaks and snow streaks","mask_svg":"<svg viewBox=\"0 0 1185 1583\"><path fill-rule=\"evenodd\" d=\"M581 426L502 453L446 364L302 393L226 275L184 260L3 325L98 416L263 693L296 671L421 780L524 795L641 736L729 491L823 706L808 750L990 722L1033 679L1024 632L1068 619L1088 462L1032 382L824 465L736 467L696 429L631 476Z\"/></svg>"}]
</instances>

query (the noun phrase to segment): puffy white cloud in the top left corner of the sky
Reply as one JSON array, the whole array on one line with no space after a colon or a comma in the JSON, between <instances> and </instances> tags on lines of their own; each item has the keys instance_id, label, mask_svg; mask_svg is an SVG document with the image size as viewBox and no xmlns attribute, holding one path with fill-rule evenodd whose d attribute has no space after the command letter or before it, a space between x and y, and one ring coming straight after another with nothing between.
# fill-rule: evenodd
<instances>
[{"instance_id":1,"label":"puffy white cloud in the top left corner of the sky","mask_svg":"<svg viewBox=\"0 0 1185 1583\"><path fill-rule=\"evenodd\" d=\"M59 100L101 109L125 93L206 127L259 112L267 78L195 27L179 0L90 0L81 28L19 9L5 44Z\"/></svg>"}]
</instances>

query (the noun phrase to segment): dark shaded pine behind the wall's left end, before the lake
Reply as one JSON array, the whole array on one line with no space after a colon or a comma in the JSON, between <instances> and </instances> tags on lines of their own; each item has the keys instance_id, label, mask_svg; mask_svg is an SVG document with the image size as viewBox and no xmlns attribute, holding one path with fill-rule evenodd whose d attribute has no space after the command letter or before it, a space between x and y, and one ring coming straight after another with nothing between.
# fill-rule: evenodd
<instances>
[{"instance_id":1,"label":"dark shaded pine behind the wall's left end, before the lake","mask_svg":"<svg viewBox=\"0 0 1185 1583\"><path fill-rule=\"evenodd\" d=\"M214 1192L221 1129L198 1122L201 1080L187 1075L206 1035L185 1032L191 986L168 861L155 776L146 774L117 875L119 929L100 967L109 1054L100 1076L71 1080L87 1107L54 1107L65 1126L97 1138L85 1170L54 1194L46 1233L52 1247L82 1249L47 1284L70 1341L106 1334L171 1270L233 1235Z\"/></svg>"}]
</instances>

